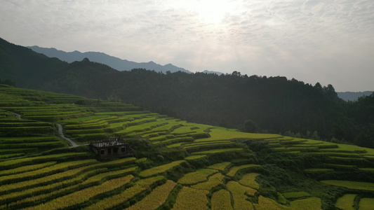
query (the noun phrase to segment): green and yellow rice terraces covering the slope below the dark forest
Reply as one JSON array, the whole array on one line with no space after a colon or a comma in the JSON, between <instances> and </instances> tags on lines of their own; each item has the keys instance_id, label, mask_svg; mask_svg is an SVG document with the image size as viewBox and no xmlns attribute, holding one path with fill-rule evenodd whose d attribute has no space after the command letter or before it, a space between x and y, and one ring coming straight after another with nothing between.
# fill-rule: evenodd
<instances>
[{"instance_id":1,"label":"green and yellow rice terraces covering the slope below the dark forest","mask_svg":"<svg viewBox=\"0 0 374 210\"><path fill-rule=\"evenodd\" d=\"M374 207L374 149L7 85L0 168L0 209Z\"/></svg>"}]
</instances>

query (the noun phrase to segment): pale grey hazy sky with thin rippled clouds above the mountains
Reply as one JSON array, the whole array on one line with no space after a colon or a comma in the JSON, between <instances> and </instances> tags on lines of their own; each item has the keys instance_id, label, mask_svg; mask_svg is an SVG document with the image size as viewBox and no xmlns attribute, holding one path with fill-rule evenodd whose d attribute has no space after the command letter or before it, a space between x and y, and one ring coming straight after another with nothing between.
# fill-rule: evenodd
<instances>
[{"instance_id":1,"label":"pale grey hazy sky with thin rippled clouds above the mountains","mask_svg":"<svg viewBox=\"0 0 374 210\"><path fill-rule=\"evenodd\" d=\"M23 46L374 90L373 0L0 0L0 28Z\"/></svg>"}]
</instances>

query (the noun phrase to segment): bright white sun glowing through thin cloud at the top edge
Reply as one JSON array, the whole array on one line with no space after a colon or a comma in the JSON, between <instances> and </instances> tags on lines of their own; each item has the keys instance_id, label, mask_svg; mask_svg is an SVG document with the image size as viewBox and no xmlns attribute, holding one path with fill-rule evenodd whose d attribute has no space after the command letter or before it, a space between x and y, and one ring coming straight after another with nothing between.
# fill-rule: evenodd
<instances>
[{"instance_id":1,"label":"bright white sun glowing through thin cloud at the top edge","mask_svg":"<svg viewBox=\"0 0 374 210\"><path fill-rule=\"evenodd\" d=\"M232 11L232 3L222 0L201 0L196 2L199 18L211 25L220 25L225 15Z\"/></svg>"}]
</instances>

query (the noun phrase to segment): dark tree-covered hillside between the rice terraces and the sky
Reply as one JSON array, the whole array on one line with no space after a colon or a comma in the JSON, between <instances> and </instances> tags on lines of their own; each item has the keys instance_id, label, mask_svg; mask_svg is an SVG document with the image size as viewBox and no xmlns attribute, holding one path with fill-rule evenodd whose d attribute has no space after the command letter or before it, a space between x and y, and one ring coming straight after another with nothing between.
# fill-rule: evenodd
<instances>
[{"instance_id":1,"label":"dark tree-covered hillside between the rice terraces and the sky","mask_svg":"<svg viewBox=\"0 0 374 210\"><path fill-rule=\"evenodd\" d=\"M373 147L373 94L344 102L333 85L282 76L120 72L88 59L67 64L4 40L0 50L0 77L18 87L131 103L195 123L237 128L252 120L259 132Z\"/></svg>"}]
</instances>

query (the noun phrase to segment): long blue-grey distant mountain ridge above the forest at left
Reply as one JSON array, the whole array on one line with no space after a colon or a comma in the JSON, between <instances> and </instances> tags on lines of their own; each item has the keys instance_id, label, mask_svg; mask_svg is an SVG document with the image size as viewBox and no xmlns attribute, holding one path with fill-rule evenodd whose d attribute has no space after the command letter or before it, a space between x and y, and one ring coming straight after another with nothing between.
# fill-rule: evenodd
<instances>
[{"instance_id":1,"label":"long blue-grey distant mountain ridge above the forest at left","mask_svg":"<svg viewBox=\"0 0 374 210\"><path fill-rule=\"evenodd\" d=\"M65 62L76 62L81 61L85 57L87 57L92 62L98 62L101 64L106 64L113 69L116 69L118 71L130 71L131 69L147 69L147 70L154 70L157 72L163 72L166 73L167 71L170 71L171 73L182 71L187 73L192 73L191 71L188 71L187 69L180 68L178 66L174 66L173 64L166 64L166 65L160 65L156 64L155 62L131 62L126 59L119 59L118 57L107 55L103 52L65 52L62 50L57 50L55 48L41 48L39 46L32 46L27 47L35 52L39 52L41 54L44 54L48 57L57 57L58 59L65 61Z\"/></svg>"}]
</instances>

